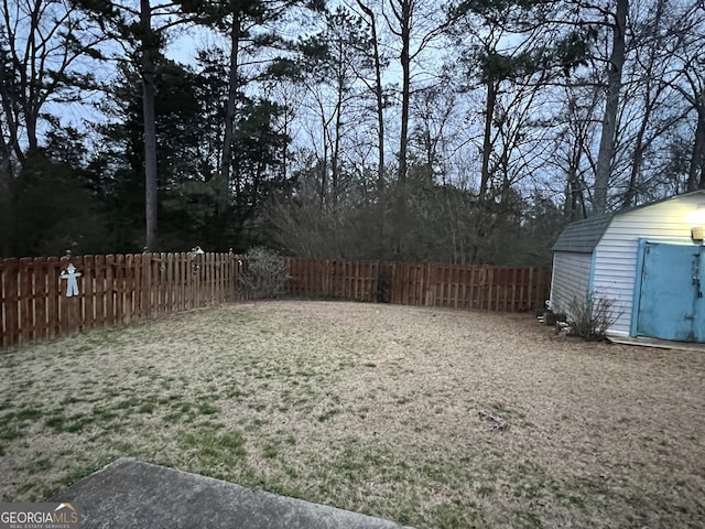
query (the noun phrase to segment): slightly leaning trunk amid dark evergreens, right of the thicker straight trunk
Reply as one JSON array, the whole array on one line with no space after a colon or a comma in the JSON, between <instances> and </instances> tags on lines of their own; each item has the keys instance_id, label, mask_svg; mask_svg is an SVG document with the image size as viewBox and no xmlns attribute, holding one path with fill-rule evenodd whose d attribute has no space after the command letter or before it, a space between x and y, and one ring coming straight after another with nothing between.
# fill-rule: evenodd
<instances>
[{"instance_id":1,"label":"slightly leaning trunk amid dark evergreens, right of the thicker straight trunk","mask_svg":"<svg viewBox=\"0 0 705 529\"><path fill-rule=\"evenodd\" d=\"M238 54L241 39L240 13L232 12L232 28L230 32L230 78L228 80L228 100L226 102L225 125L223 131L223 151L220 159L220 179L218 182L218 196L216 198L218 213L227 210L230 202L230 166L232 161L232 129L235 127L235 111L237 108L238 90Z\"/></svg>"}]
</instances>

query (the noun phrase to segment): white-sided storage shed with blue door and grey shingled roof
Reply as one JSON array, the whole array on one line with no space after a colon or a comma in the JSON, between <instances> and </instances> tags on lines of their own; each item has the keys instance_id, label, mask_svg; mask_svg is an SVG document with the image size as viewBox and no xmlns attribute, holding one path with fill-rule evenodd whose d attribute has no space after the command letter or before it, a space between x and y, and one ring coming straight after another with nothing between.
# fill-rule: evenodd
<instances>
[{"instance_id":1,"label":"white-sided storage shed with blue door and grey shingled roof","mask_svg":"<svg viewBox=\"0 0 705 529\"><path fill-rule=\"evenodd\" d=\"M551 309L605 299L612 336L705 343L705 191L568 225L553 247Z\"/></svg>"}]
</instances>

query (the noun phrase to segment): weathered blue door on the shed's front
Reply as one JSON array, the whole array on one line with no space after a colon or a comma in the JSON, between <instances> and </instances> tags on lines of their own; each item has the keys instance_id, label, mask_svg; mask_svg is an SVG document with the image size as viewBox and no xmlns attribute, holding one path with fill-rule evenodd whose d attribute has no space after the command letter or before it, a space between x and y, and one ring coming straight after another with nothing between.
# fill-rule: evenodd
<instances>
[{"instance_id":1,"label":"weathered blue door on the shed's front","mask_svg":"<svg viewBox=\"0 0 705 529\"><path fill-rule=\"evenodd\" d=\"M705 342L705 262L699 246L647 242L637 335Z\"/></svg>"}]
</instances>

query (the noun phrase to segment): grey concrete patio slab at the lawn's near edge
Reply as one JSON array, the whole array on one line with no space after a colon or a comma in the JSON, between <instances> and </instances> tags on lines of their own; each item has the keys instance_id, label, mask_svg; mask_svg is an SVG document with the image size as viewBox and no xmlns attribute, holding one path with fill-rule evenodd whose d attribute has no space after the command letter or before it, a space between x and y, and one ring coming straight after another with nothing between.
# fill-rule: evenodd
<instances>
[{"instance_id":1,"label":"grey concrete patio slab at the lawn's near edge","mask_svg":"<svg viewBox=\"0 0 705 529\"><path fill-rule=\"evenodd\" d=\"M50 501L78 507L82 529L402 527L389 520L124 458L75 483Z\"/></svg>"}]
</instances>

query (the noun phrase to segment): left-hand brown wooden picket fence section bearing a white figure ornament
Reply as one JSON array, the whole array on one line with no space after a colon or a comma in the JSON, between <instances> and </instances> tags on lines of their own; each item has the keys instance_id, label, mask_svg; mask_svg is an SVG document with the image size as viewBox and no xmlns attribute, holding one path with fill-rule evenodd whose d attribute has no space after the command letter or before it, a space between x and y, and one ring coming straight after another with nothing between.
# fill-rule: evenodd
<instances>
[{"instance_id":1,"label":"left-hand brown wooden picket fence section bearing a white figure ornament","mask_svg":"<svg viewBox=\"0 0 705 529\"><path fill-rule=\"evenodd\" d=\"M235 300L241 266L231 253L0 259L0 347Z\"/></svg>"}]
</instances>

